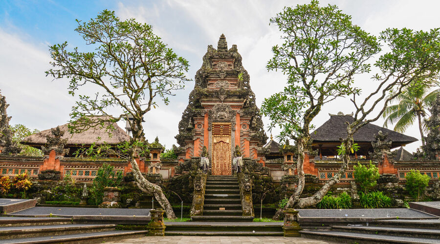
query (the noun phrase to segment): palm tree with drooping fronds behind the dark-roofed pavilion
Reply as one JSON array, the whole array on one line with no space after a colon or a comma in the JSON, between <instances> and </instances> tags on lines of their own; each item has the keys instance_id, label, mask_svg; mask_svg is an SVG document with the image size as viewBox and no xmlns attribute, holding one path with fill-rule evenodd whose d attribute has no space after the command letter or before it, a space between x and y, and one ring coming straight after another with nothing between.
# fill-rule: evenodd
<instances>
[{"instance_id":1,"label":"palm tree with drooping fronds behind the dark-roofed pavilion","mask_svg":"<svg viewBox=\"0 0 440 244\"><path fill-rule=\"evenodd\" d=\"M432 87L435 87L435 89L430 92ZM435 102L438 93L440 93L438 81L433 82L431 85L416 82L408 86L392 101L397 102L397 104L388 106L384 111L383 118L386 120L383 126L387 128L388 123L396 123L394 130L402 133L417 119L422 145L424 146L423 131L426 131L426 126L422 117L425 117L426 111Z\"/></svg>"}]
</instances>

